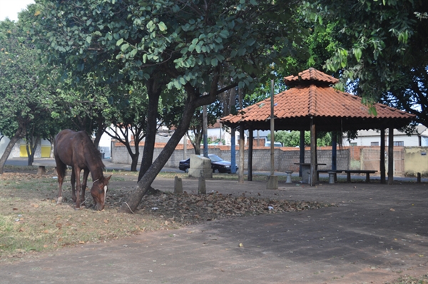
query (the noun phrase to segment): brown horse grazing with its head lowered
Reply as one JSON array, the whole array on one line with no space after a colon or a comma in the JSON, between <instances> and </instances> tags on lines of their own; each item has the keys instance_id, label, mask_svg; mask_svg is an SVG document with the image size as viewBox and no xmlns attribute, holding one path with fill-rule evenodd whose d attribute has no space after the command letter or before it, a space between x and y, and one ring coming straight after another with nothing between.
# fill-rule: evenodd
<instances>
[{"instance_id":1,"label":"brown horse grazing with its head lowered","mask_svg":"<svg viewBox=\"0 0 428 284\"><path fill-rule=\"evenodd\" d=\"M80 208L85 200L86 181L88 174L91 172L93 185L91 188L91 196L95 203L94 209L101 211L106 202L106 193L108 181L111 176L105 178L103 169L105 168L101 161L101 153L93 145L91 138L85 131L63 130L55 138L55 161L56 171L58 172L58 204L62 203L62 183L66 176L67 166L71 166L71 189L73 192L73 201L76 202L76 209ZM83 183L80 184L80 173L83 170ZM75 191L75 183L77 183ZM79 191L82 190L80 196ZM81 199L83 203L81 203Z\"/></svg>"}]
</instances>

